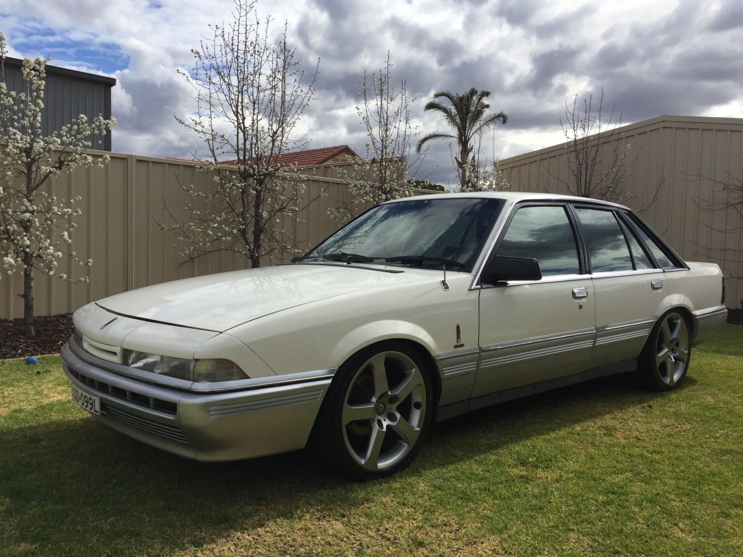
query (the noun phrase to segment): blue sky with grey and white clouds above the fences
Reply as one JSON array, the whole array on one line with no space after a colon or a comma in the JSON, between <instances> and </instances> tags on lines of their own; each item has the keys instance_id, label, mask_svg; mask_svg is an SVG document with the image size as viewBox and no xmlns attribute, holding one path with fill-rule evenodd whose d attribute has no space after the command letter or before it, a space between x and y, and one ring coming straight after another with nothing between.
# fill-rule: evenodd
<instances>
[{"instance_id":1,"label":"blue sky with grey and white clouds above the fences","mask_svg":"<svg viewBox=\"0 0 743 557\"><path fill-rule=\"evenodd\" d=\"M199 148L175 122L195 106L177 70L191 49L229 22L233 0L3 0L0 31L10 56L112 76L114 151L188 157ZM743 117L741 0L260 0L309 70L317 99L302 128L311 148L365 152L357 117L365 69L389 51L406 80L422 134L444 131L423 111L433 92L491 91L508 115L483 137L499 159L559 143L565 102L605 91L623 123L674 114ZM450 148L432 143L418 177L455 181Z\"/></svg>"}]
</instances>

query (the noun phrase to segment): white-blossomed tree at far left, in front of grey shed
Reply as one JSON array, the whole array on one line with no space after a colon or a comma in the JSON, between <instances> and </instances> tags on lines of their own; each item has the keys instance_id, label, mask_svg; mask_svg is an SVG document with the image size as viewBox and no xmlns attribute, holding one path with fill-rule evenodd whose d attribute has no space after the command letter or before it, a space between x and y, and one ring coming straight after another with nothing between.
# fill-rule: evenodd
<instances>
[{"instance_id":1,"label":"white-blossomed tree at far left, in front of grey shed","mask_svg":"<svg viewBox=\"0 0 743 557\"><path fill-rule=\"evenodd\" d=\"M47 60L24 59L24 90L10 91L5 79L7 42L0 33L0 257L7 275L23 275L25 335L33 338L33 273L72 280L59 273L59 259L69 257L89 266L71 250L74 209L80 198L53 195L50 178L78 166L103 166L108 156L86 152L96 136L103 136L116 120L84 115L50 135L42 133ZM42 188L42 186L44 186ZM5 273L0 273L0 276ZM77 281L88 281L83 276Z\"/></svg>"}]
</instances>

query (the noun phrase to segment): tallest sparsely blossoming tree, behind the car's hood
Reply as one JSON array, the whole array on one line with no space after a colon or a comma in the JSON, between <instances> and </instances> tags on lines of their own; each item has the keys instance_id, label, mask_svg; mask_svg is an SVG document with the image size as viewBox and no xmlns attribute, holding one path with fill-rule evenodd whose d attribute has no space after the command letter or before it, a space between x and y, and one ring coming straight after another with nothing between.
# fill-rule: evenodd
<instances>
[{"instance_id":1,"label":"tallest sparsely blossoming tree, behind the car's hood","mask_svg":"<svg viewBox=\"0 0 743 557\"><path fill-rule=\"evenodd\" d=\"M177 120L204 142L206 156L194 157L212 177L209 192L182 186L194 199L186 218L168 209L171 223L160 223L181 240L175 252L186 261L232 252L260 267L262 258L296 253L293 221L314 201L304 197L296 168L282 162L282 154L308 144L298 123L312 100L314 75L308 82L299 69L286 25L272 41L271 19L261 21L255 4L236 0L233 22L210 26L213 35L192 50L195 68L181 72L196 110Z\"/></svg>"}]
</instances>

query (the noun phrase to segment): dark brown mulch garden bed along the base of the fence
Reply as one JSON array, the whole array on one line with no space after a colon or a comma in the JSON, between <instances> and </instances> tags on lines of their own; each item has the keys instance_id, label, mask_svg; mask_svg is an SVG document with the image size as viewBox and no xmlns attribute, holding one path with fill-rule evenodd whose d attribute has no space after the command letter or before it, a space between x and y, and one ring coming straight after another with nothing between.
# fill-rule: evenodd
<instances>
[{"instance_id":1,"label":"dark brown mulch garden bed along the base of the fence","mask_svg":"<svg viewBox=\"0 0 743 557\"><path fill-rule=\"evenodd\" d=\"M730 325L743 325L743 310L727 310ZM23 336L23 319L0 319L0 358L57 354L72 334L72 314L36 317L36 338Z\"/></svg>"}]
</instances>

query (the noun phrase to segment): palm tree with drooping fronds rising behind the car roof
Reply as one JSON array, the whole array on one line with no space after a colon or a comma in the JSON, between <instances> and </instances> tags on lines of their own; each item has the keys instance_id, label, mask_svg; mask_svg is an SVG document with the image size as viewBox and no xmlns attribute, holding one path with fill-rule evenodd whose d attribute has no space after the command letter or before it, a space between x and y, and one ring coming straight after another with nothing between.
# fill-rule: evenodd
<instances>
[{"instance_id":1,"label":"palm tree with drooping fronds rising behind the car roof","mask_svg":"<svg viewBox=\"0 0 743 557\"><path fill-rule=\"evenodd\" d=\"M421 147L429 140L433 139L453 139L457 141L459 147L459 157L454 157L459 169L459 185L464 188L467 184L467 161L470 160L470 153L473 152L473 138L479 132L491 128L496 123L506 123L508 117L504 112L498 114L485 114L490 105L484 101L490 97L490 91L478 91L476 88L470 88L470 91L460 95L451 91L437 91L433 94L434 99L449 100L451 105L445 105L437 100L429 101L424 110L437 110L444 117L444 122L452 128L451 133L441 131L432 134L426 134L418 145L415 146L415 152L420 153Z\"/></svg>"}]
</instances>

